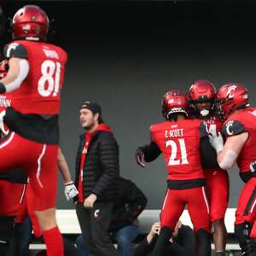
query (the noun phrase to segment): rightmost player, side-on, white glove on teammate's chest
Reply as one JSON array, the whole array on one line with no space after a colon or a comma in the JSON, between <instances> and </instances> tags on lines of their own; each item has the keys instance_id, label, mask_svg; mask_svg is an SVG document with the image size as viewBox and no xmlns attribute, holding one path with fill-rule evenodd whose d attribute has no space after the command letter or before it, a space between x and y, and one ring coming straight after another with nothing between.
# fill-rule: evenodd
<instances>
[{"instance_id":1,"label":"rightmost player, side-on, white glove on teammate's chest","mask_svg":"<svg viewBox=\"0 0 256 256\"><path fill-rule=\"evenodd\" d=\"M256 108L249 107L247 89L241 84L224 84L217 92L216 108L224 119L222 135L210 134L212 147L218 154L218 165L230 169L235 163L246 183L236 208L235 233L244 255L256 255L256 232L250 229L256 217L256 177L250 164L256 158Z\"/></svg>"}]
</instances>

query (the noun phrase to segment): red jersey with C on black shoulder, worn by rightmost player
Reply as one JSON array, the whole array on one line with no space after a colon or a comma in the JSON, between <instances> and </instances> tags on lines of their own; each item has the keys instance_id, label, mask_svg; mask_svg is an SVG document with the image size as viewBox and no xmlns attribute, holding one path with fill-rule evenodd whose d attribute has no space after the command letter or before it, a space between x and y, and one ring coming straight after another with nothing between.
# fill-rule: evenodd
<instances>
[{"instance_id":1,"label":"red jersey with C on black shoulder, worn by rightmost player","mask_svg":"<svg viewBox=\"0 0 256 256\"><path fill-rule=\"evenodd\" d=\"M236 121L241 126L235 128ZM241 148L241 152L236 160L240 172L248 172L250 170L250 163L256 160L256 108L246 108L238 113L234 113L224 122L226 136L232 136L247 131L249 137L247 142Z\"/></svg>"}]
</instances>

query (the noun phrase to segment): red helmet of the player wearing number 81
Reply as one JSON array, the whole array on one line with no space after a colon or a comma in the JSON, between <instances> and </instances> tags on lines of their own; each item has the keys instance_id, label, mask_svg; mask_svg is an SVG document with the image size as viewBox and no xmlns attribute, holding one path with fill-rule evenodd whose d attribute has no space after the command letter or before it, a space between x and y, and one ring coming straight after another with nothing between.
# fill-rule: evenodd
<instances>
[{"instance_id":1,"label":"red helmet of the player wearing number 81","mask_svg":"<svg viewBox=\"0 0 256 256\"><path fill-rule=\"evenodd\" d=\"M37 5L26 5L13 18L13 37L26 40L46 40L49 19Z\"/></svg>"}]
</instances>

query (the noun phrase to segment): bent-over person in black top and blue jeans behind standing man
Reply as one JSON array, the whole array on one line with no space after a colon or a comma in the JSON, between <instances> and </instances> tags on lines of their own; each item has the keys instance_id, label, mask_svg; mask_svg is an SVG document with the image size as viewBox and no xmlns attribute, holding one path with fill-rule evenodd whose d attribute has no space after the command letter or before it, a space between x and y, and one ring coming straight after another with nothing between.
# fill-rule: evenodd
<instances>
[{"instance_id":1,"label":"bent-over person in black top and blue jeans behind standing man","mask_svg":"<svg viewBox=\"0 0 256 256\"><path fill-rule=\"evenodd\" d=\"M137 185L129 179L119 177L118 184L118 197L113 204L108 231L117 241L119 256L133 256L134 245L132 241L139 233L138 226L134 223L134 220L143 212L148 200L143 191L138 189ZM79 249L79 256L88 256L89 253L83 236L79 236L76 243Z\"/></svg>"}]
</instances>

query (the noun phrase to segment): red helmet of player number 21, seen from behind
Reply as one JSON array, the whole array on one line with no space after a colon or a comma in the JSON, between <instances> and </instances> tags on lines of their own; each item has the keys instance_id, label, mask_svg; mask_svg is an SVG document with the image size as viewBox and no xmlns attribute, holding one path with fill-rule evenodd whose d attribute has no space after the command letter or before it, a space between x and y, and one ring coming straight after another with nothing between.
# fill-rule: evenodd
<instances>
[{"instance_id":1,"label":"red helmet of player number 21, seen from behind","mask_svg":"<svg viewBox=\"0 0 256 256\"><path fill-rule=\"evenodd\" d=\"M172 89L166 92L162 101L162 113L169 119L172 113L184 113L188 116L189 100L182 90Z\"/></svg>"}]
</instances>

